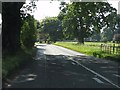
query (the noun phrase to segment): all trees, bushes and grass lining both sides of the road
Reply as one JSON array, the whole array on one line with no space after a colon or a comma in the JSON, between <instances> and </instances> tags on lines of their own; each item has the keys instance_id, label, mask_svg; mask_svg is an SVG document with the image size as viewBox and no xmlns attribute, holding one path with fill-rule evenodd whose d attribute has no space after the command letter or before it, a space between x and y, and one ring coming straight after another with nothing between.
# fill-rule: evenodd
<instances>
[{"instance_id":1,"label":"all trees, bushes and grass lining both sides of the road","mask_svg":"<svg viewBox=\"0 0 120 90\"><path fill-rule=\"evenodd\" d=\"M2 3L3 79L35 55L34 43L56 45L101 58L119 59L118 54L101 51L99 41L120 43L120 15L108 2L61 2L57 17L37 21L32 16L35 0ZM96 45L86 43L96 41ZM98 55L97 55L98 54Z\"/></svg>"}]
</instances>

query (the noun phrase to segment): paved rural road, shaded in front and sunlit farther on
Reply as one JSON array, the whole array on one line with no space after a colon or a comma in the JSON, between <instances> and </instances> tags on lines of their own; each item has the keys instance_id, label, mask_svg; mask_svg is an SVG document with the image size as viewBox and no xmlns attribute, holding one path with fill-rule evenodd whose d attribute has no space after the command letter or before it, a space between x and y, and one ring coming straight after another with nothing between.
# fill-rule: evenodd
<instances>
[{"instance_id":1,"label":"paved rural road, shaded in front and sunlit farther on","mask_svg":"<svg viewBox=\"0 0 120 90\"><path fill-rule=\"evenodd\" d=\"M36 57L8 88L120 88L120 65L51 44L37 45Z\"/></svg>"}]
</instances>

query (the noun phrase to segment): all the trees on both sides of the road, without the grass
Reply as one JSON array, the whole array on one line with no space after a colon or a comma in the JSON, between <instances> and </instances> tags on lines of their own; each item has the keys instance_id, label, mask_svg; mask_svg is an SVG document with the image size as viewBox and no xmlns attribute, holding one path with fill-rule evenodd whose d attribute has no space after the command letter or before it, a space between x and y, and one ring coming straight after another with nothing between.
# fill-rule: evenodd
<instances>
[{"instance_id":1,"label":"all the trees on both sides of the road, without the grass","mask_svg":"<svg viewBox=\"0 0 120 90\"><path fill-rule=\"evenodd\" d=\"M24 2L2 3L3 53L16 52L21 46L32 47L37 29L42 33L40 38L45 37L45 40L56 42L76 38L81 44L93 35L99 40L101 37L111 40L120 33L120 15L108 2L61 2L58 17L47 17L40 23L27 13L34 8L34 0L27 6Z\"/></svg>"}]
</instances>

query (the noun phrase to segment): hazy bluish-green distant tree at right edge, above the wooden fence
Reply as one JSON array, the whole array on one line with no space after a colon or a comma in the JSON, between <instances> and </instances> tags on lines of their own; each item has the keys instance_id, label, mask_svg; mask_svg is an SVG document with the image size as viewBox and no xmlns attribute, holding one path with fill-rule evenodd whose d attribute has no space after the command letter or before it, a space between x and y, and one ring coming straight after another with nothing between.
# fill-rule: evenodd
<instances>
[{"instance_id":1,"label":"hazy bluish-green distant tree at right edge, above the wooden fence","mask_svg":"<svg viewBox=\"0 0 120 90\"><path fill-rule=\"evenodd\" d=\"M109 26L104 28L101 33L102 41L112 41L114 35L120 34L120 15L111 14L107 17Z\"/></svg>"}]
</instances>

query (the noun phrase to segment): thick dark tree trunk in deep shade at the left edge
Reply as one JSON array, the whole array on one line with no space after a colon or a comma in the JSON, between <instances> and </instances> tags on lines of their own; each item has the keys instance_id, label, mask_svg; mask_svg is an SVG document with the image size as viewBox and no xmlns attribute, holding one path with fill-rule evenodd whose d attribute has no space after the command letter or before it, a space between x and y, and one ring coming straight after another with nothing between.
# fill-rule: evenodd
<instances>
[{"instance_id":1,"label":"thick dark tree trunk in deep shade at the left edge","mask_svg":"<svg viewBox=\"0 0 120 90\"><path fill-rule=\"evenodd\" d=\"M23 2L2 3L2 50L16 52L20 49L20 8Z\"/></svg>"}]
</instances>

